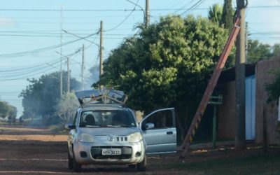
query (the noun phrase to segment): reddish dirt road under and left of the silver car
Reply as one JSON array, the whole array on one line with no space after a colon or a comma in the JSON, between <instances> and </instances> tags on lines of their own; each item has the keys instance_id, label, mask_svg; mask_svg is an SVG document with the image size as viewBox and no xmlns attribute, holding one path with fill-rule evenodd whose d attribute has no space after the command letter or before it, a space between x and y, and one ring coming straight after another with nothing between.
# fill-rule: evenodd
<instances>
[{"instance_id":1,"label":"reddish dirt road under and left of the silver car","mask_svg":"<svg viewBox=\"0 0 280 175\"><path fill-rule=\"evenodd\" d=\"M74 174L67 168L66 135L36 127L0 125L0 174ZM178 159L177 157L169 157ZM84 166L78 174L183 174L153 167L165 157L148 158L147 172L127 166Z\"/></svg>"}]
</instances>

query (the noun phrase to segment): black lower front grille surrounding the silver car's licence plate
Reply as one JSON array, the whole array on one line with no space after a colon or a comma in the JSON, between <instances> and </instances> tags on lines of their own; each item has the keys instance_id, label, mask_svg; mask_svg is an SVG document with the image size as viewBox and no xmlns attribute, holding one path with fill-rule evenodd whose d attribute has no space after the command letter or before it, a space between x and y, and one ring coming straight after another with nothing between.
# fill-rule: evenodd
<instances>
[{"instance_id":1,"label":"black lower front grille surrounding the silver car's licence plate","mask_svg":"<svg viewBox=\"0 0 280 175\"><path fill-rule=\"evenodd\" d=\"M120 148L121 155L102 155L103 148ZM90 153L92 158L96 160L130 159L132 157L132 148L130 146L92 146Z\"/></svg>"}]
</instances>

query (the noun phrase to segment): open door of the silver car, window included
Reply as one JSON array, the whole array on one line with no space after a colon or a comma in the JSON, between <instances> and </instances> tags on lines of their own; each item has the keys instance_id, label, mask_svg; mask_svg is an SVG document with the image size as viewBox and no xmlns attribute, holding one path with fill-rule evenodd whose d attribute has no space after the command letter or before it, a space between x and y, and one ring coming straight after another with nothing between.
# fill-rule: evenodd
<instances>
[{"instance_id":1,"label":"open door of the silver car, window included","mask_svg":"<svg viewBox=\"0 0 280 175\"><path fill-rule=\"evenodd\" d=\"M153 111L141 121L140 128L147 155L176 153L174 108Z\"/></svg>"}]
</instances>

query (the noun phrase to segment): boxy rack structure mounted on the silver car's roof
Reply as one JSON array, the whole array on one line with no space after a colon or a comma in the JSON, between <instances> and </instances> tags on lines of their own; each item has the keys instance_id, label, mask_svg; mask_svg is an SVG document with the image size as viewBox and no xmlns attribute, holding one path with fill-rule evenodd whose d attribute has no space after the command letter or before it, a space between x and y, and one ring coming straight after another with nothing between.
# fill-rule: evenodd
<instances>
[{"instance_id":1,"label":"boxy rack structure mounted on the silver car's roof","mask_svg":"<svg viewBox=\"0 0 280 175\"><path fill-rule=\"evenodd\" d=\"M125 104L127 95L120 90L80 90L75 92L80 106L92 106L96 104Z\"/></svg>"}]
</instances>

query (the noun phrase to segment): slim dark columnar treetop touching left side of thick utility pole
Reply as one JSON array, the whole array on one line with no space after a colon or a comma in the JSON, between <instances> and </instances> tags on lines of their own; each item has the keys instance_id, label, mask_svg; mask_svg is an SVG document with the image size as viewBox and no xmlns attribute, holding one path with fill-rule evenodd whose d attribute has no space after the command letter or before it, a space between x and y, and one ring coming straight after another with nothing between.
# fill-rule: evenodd
<instances>
[{"instance_id":1,"label":"slim dark columnar treetop touching left side of thick utility pole","mask_svg":"<svg viewBox=\"0 0 280 175\"><path fill-rule=\"evenodd\" d=\"M223 3L223 15L222 15L222 21L225 25L225 29L232 29L233 27L233 15L234 11L232 8L232 0L224 0Z\"/></svg>"}]
</instances>

